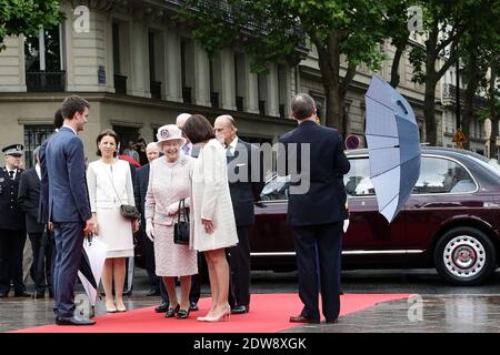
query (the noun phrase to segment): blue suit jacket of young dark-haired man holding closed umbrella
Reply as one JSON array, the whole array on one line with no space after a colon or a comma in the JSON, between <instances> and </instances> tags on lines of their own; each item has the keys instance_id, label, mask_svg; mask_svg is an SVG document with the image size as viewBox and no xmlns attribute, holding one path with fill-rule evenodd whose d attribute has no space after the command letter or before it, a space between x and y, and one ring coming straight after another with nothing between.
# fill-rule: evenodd
<instances>
[{"instance_id":1,"label":"blue suit jacket of young dark-haired man holding closed umbrella","mask_svg":"<svg viewBox=\"0 0 500 355\"><path fill-rule=\"evenodd\" d=\"M84 222L90 220L87 195L83 143L69 128L53 134L46 149L49 181L49 220Z\"/></svg>"}]
</instances>

